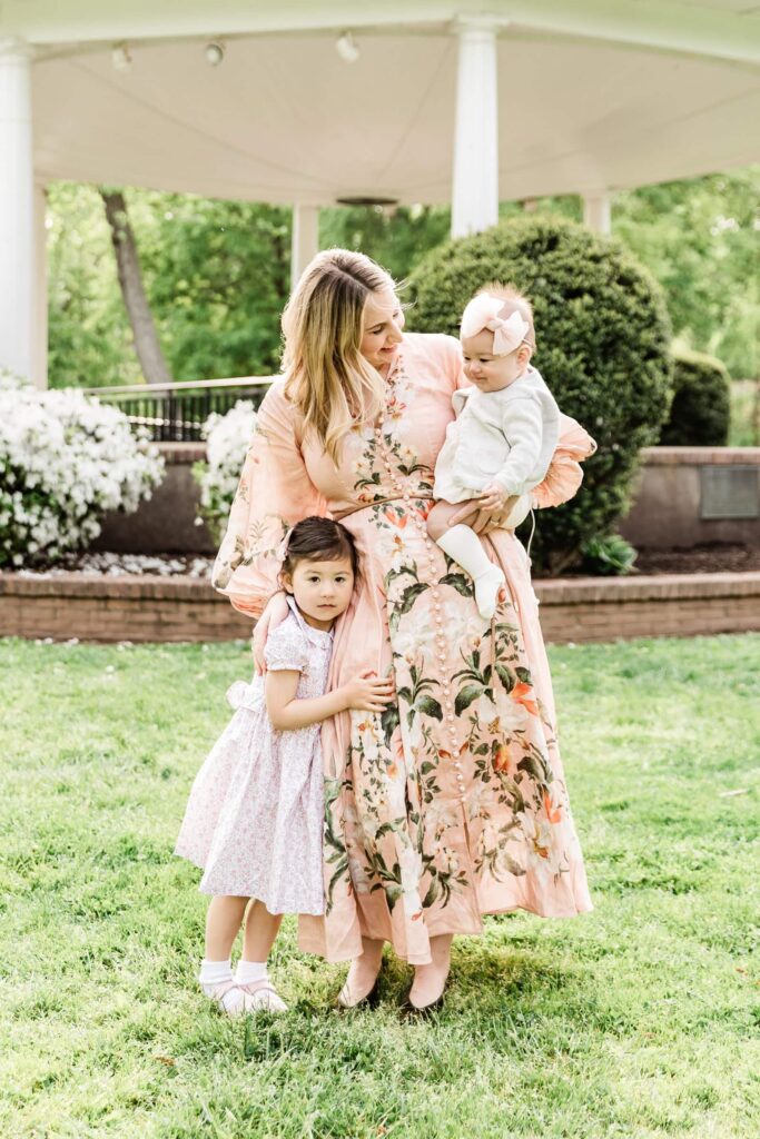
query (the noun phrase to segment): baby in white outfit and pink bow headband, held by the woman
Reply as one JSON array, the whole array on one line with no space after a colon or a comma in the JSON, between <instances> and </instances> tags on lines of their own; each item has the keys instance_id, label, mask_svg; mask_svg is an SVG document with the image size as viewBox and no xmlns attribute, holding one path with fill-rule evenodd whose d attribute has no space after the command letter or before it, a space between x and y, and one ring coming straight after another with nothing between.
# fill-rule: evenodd
<instances>
[{"instance_id":1,"label":"baby in white outfit and pink bow headband, held by the woman","mask_svg":"<svg viewBox=\"0 0 760 1139\"><path fill-rule=\"evenodd\" d=\"M483 508L507 508L507 530L525 518L530 492L545 478L557 445L559 409L531 367L533 314L516 289L487 286L465 309L459 337L465 376L473 386L459 388L451 400L457 418L447 428L435 464L434 494L440 501L428 515L427 530L473 579L475 603L488 620L505 576L471 524ZM451 526L463 502L472 503L472 513Z\"/></svg>"}]
</instances>

